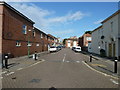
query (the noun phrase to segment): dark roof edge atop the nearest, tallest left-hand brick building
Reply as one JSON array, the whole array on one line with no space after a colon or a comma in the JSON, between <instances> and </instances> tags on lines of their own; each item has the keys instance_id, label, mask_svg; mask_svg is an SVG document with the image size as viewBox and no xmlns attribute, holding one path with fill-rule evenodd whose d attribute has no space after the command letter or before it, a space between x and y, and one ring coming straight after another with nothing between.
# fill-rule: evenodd
<instances>
[{"instance_id":1,"label":"dark roof edge atop the nearest, tallest left-hand brick building","mask_svg":"<svg viewBox=\"0 0 120 90\"><path fill-rule=\"evenodd\" d=\"M27 21L29 21L32 24L35 24L35 22L33 22L32 20L30 20L28 17L26 17L25 15L23 15L22 13L20 13L19 11L17 11L15 8L13 8L12 6L10 6L9 4L7 4L4 1L0 1L0 5L5 5L7 8L9 8L10 10L14 11L16 14L18 14L19 16L23 17L24 19L26 19Z\"/></svg>"}]
</instances>

